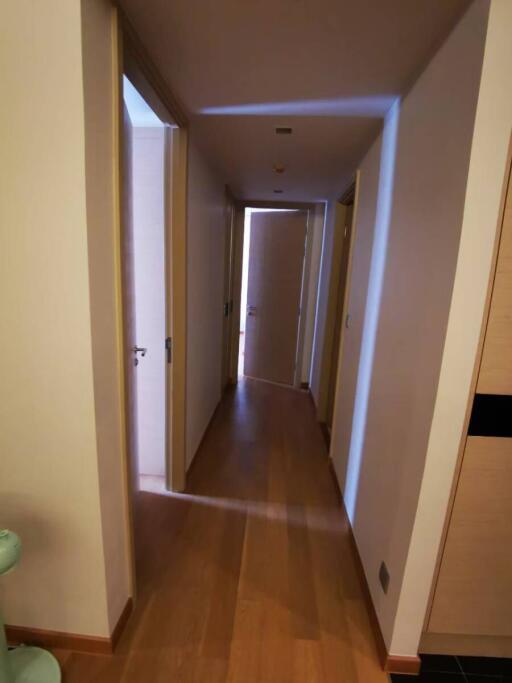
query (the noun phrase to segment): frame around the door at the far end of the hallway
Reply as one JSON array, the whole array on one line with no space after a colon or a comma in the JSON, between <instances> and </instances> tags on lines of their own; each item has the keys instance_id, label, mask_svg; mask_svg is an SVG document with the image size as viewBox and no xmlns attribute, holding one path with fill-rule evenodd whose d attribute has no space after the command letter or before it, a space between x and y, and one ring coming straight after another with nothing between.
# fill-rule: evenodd
<instances>
[{"instance_id":1,"label":"frame around the door at the far end of the hallway","mask_svg":"<svg viewBox=\"0 0 512 683\"><path fill-rule=\"evenodd\" d=\"M242 298L242 265L244 252L244 222L246 209L295 209L299 211L306 211L306 237L304 261L302 266L302 286L300 295L300 315L298 321L298 335L297 335L297 349L296 349L296 363L293 387L295 389L301 388L301 370L302 370L302 355L304 348L304 336L306 330L306 313L307 313L307 297L309 282L309 266L311 263L311 254L313 249L313 230L311 229L314 218L315 204L311 202L283 202L283 201L265 201L265 200L235 200L233 212L233 248L231 249L232 263L230 270L232 272L232 315L229 320L229 376L230 384L237 384L238 382L238 354L240 350L240 318L241 298Z\"/></svg>"}]
</instances>

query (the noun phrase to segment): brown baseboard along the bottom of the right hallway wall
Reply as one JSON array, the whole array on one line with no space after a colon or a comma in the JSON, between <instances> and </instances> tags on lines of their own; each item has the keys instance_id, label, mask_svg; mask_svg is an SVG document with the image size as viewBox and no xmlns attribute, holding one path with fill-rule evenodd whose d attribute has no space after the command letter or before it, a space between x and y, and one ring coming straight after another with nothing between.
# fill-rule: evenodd
<instances>
[{"instance_id":1,"label":"brown baseboard along the bottom of the right hallway wall","mask_svg":"<svg viewBox=\"0 0 512 683\"><path fill-rule=\"evenodd\" d=\"M357 547L352 525L347 515L345 502L343 500L343 495L341 493L341 489L338 483L338 477L336 476L336 472L334 470L334 465L332 463L331 458L329 458L329 467L333 477L334 485L336 487L336 491L338 492L342 514L345 517L345 523L349 531L350 545L352 547L353 556L355 559L356 570L359 576L359 583L361 584L361 588L363 591L364 601L366 603L366 609L368 611L368 616L370 618L370 624L372 627L373 636L375 638L375 645L377 648L377 654L381 666L383 670L387 671L388 673L412 675L419 674L421 660L417 655L407 657L402 655L392 655L388 652L386 643L384 641L384 637L382 635L382 631L380 629L380 623L377 617L377 612L375 611L375 607L373 605L370 587L368 586L368 581L366 579L366 573L364 571L363 562L361 560L361 555L359 554L359 548Z\"/></svg>"}]
</instances>

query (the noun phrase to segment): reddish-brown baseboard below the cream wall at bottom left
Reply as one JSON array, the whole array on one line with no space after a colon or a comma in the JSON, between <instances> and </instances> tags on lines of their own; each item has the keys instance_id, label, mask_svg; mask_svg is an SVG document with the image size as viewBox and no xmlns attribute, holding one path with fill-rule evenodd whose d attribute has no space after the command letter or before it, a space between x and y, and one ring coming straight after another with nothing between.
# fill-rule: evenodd
<instances>
[{"instance_id":1,"label":"reddish-brown baseboard below the cream wall at bottom left","mask_svg":"<svg viewBox=\"0 0 512 683\"><path fill-rule=\"evenodd\" d=\"M110 655L114 652L132 609L133 601L128 598L110 638L6 625L7 642L9 645L39 645L50 650L73 650L74 652Z\"/></svg>"}]
</instances>

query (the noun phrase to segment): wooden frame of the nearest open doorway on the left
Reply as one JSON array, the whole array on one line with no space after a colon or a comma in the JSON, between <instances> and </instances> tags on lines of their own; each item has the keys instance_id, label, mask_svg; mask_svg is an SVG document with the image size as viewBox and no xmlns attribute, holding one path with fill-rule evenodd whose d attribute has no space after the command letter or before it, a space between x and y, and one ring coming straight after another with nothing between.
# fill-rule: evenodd
<instances>
[{"instance_id":1,"label":"wooden frame of the nearest open doorway on the left","mask_svg":"<svg viewBox=\"0 0 512 683\"><path fill-rule=\"evenodd\" d=\"M166 131L166 164L170 175L170 187L166 184L164 201L166 203L165 241L166 241L166 294L167 334L172 337L171 378L166 382L166 406L169 405L170 391L173 396L173 409L170 416L171 444L166 448L166 486L175 491L185 488L185 430L186 430L186 302L187 302L187 166L188 166L188 121L164 80L151 62L144 46L130 25L123 11L113 8L113 126L115 148L114 188L115 201L115 239L116 239L116 300L117 300L117 339L120 363L120 395L122 452L124 458L124 499L127 537L130 552L130 584L135 596L135 550L133 532L132 474L130 471L127 448L129 411L126 393L126 336L123 293L125 283L122 275L122 244L124 226L123 206L123 75L129 68L134 85L140 88L148 104L162 118L172 120L178 127ZM163 340L162 340L163 341ZM167 438L167 435L166 435ZM170 448L168 447L170 445Z\"/></svg>"}]
</instances>

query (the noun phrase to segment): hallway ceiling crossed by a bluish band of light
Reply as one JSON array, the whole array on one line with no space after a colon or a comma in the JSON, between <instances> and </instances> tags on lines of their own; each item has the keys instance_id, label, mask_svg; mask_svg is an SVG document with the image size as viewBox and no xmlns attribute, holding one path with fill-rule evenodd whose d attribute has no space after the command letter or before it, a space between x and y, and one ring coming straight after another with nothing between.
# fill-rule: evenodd
<instances>
[{"instance_id":1,"label":"hallway ceiling crossed by a bluish band of light","mask_svg":"<svg viewBox=\"0 0 512 683\"><path fill-rule=\"evenodd\" d=\"M235 195L315 201L341 194L390 103L470 2L121 4Z\"/></svg>"}]
</instances>

